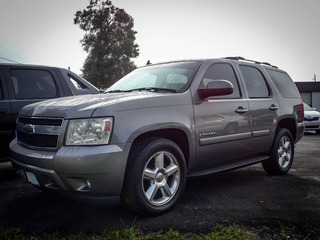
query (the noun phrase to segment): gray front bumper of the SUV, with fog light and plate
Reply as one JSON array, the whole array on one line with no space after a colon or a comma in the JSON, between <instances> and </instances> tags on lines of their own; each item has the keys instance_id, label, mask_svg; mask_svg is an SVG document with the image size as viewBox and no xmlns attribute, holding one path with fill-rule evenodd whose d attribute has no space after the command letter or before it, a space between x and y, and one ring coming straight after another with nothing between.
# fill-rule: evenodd
<instances>
[{"instance_id":1,"label":"gray front bumper of the SUV, with fog light and plate","mask_svg":"<svg viewBox=\"0 0 320 240\"><path fill-rule=\"evenodd\" d=\"M84 198L113 198L121 194L128 151L117 145L68 146L57 152L10 144L11 162L31 184Z\"/></svg>"}]
</instances>

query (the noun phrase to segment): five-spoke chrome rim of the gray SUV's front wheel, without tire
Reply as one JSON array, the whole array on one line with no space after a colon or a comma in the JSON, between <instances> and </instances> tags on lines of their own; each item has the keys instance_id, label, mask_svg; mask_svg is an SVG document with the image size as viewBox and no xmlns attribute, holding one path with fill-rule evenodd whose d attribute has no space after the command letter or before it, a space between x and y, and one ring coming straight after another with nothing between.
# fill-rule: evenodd
<instances>
[{"instance_id":1,"label":"five-spoke chrome rim of the gray SUV's front wheel, without tire","mask_svg":"<svg viewBox=\"0 0 320 240\"><path fill-rule=\"evenodd\" d=\"M155 153L142 173L142 189L147 201L162 206L176 194L180 184L178 160L169 152Z\"/></svg>"}]
</instances>

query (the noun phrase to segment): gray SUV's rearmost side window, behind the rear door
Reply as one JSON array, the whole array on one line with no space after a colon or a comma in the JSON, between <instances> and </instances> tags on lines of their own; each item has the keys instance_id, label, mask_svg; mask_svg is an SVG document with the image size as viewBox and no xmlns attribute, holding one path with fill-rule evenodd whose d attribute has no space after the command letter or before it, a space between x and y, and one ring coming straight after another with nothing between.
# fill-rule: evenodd
<instances>
[{"instance_id":1,"label":"gray SUV's rearmost side window, behind the rear door","mask_svg":"<svg viewBox=\"0 0 320 240\"><path fill-rule=\"evenodd\" d=\"M271 69L267 69L267 72L283 98L300 98L295 84L287 73Z\"/></svg>"}]
</instances>

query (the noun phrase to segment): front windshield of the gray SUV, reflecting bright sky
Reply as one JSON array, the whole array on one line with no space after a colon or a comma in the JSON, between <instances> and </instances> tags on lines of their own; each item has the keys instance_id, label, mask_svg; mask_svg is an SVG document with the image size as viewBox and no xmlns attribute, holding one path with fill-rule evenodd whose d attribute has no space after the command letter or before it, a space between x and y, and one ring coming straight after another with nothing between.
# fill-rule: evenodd
<instances>
[{"instance_id":1,"label":"front windshield of the gray SUV, reflecting bright sky","mask_svg":"<svg viewBox=\"0 0 320 240\"><path fill-rule=\"evenodd\" d=\"M108 92L183 92L200 62L175 62L138 68L106 90Z\"/></svg>"}]
</instances>

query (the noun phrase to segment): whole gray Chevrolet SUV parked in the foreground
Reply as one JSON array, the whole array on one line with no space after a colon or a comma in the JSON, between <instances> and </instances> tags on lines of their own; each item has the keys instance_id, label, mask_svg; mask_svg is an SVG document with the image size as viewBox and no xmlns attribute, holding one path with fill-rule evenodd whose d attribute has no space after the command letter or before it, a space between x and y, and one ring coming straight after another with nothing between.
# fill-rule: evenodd
<instances>
[{"instance_id":1,"label":"whole gray Chevrolet SUV parked in the foreground","mask_svg":"<svg viewBox=\"0 0 320 240\"><path fill-rule=\"evenodd\" d=\"M11 161L31 184L78 198L120 199L157 215L187 177L262 162L285 174L303 136L289 75L241 57L169 62L131 72L105 94L24 107Z\"/></svg>"}]
</instances>

